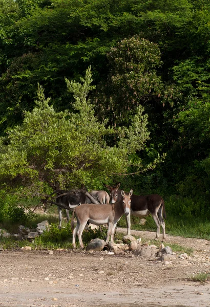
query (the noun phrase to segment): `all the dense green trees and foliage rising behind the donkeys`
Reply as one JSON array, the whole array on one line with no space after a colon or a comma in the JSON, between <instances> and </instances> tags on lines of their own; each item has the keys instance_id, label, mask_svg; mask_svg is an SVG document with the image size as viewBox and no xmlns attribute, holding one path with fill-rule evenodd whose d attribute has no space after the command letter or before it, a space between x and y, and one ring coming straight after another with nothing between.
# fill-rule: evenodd
<instances>
[{"instance_id":1,"label":"all the dense green trees and foliage rising behind the donkeys","mask_svg":"<svg viewBox=\"0 0 210 307\"><path fill-rule=\"evenodd\" d=\"M209 25L207 0L0 0L0 220L118 181L208 220Z\"/></svg>"}]
</instances>

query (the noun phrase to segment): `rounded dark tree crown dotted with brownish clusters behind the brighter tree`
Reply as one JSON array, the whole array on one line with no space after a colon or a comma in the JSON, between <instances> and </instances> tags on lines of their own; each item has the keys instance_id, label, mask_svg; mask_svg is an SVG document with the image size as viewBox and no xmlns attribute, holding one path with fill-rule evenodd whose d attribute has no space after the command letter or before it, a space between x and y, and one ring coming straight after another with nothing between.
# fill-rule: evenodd
<instances>
[{"instance_id":1,"label":"rounded dark tree crown dotted with brownish clusters behind the brighter tree","mask_svg":"<svg viewBox=\"0 0 210 307\"><path fill-rule=\"evenodd\" d=\"M118 42L108 59L110 74L103 87L99 85L98 112L109 116L113 125L129 124L137 106L147 102L145 111L151 111L150 103L161 95L162 82L157 76L160 50L156 44L133 36Z\"/></svg>"}]
</instances>

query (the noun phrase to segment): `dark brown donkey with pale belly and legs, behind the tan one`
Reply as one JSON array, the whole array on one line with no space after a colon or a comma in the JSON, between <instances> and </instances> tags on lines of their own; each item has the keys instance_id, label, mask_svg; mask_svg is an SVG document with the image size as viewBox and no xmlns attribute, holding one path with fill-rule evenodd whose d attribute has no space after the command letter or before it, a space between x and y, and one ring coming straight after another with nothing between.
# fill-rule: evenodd
<instances>
[{"instance_id":1,"label":"dark brown donkey with pale belly and legs, behind the tan one","mask_svg":"<svg viewBox=\"0 0 210 307\"><path fill-rule=\"evenodd\" d=\"M121 199L121 190L119 190L120 183L116 187L106 187L110 190L110 202L114 204ZM160 226L162 226L162 241L165 240L165 222L166 218L164 201L158 194L150 195L132 195L131 196L131 214L138 217L152 215L157 226L157 234L155 239L158 240L160 236ZM126 216L127 219L127 234L131 234L131 214Z\"/></svg>"}]
</instances>

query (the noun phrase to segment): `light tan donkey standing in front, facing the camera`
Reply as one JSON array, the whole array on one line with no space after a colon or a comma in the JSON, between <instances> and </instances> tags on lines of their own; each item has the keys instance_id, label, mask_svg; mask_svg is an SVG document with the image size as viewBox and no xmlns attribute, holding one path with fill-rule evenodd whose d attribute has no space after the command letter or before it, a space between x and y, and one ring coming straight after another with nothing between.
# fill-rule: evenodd
<instances>
[{"instance_id":1,"label":"light tan donkey standing in front, facing the camera","mask_svg":"<svg viewBox=\"0 0 210 307\"><path fill-rule=\"evenodd\" d=\"M82 242L82 232L85 229L87 222L95 224L95 225L103 225L108 224L108 232L107 232L107 240L109 242L109 238L111 235L111 241L114 241L114 232L117 222L120 220L120 217L123 213L125 215L130 214L131 210L131 195L133 190L129 192L129 195L125 195L124 191L121 191L121 199L114 204L105 204L100 205L100 209L98 205L95 204L82 204L76 207L72 214L71 220L71 228L73 231L72 244L73 247L76 247L76 235L79 239L79 244L81 248L84 248ZM74 228L74 214L77 218L77 224ZM73 230L74 229L74 230Z\"/></svg>"}]
</instances>

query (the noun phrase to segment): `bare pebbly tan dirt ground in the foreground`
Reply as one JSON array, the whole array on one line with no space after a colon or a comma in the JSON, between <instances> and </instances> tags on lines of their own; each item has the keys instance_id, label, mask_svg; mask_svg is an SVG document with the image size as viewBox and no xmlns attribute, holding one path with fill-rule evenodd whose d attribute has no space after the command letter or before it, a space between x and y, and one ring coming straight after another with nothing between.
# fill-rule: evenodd
<instances>
[{"instance_id":1,"label":"bare pebbly tan dirt ground in the foreground","mask_svg":"<svg viewBox=\"0 0 210 307\"><path fill-rule=\"evenodd\" d=\"M165 265L104 252L2 251L0 307L210 306L210 283L189 279L210 272L210 242L174 236L167 241L192 247L191 259Z\"/></svg>"}]
</instances>

